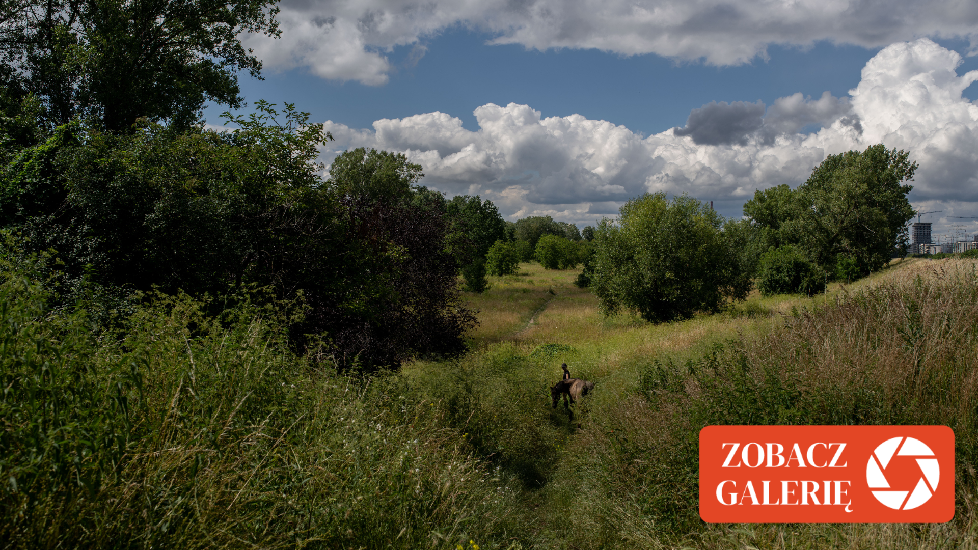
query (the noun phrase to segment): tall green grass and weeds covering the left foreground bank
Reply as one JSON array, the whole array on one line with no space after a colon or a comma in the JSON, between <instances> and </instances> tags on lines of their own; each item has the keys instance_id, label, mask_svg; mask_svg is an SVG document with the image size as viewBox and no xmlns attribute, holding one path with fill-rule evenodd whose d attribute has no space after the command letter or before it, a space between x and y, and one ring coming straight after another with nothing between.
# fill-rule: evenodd
<instances>
[{"instance_id":1,"label":"tall green grass and weeds covering the left foreground bank","mask_svg":"<svg viewBox=\"0 0 978 550\"><path fill-rule=\"evenodd\" d=\"M5 548L456 548L513 528L508 476L444 403L310 369L276 311L157 297L110 334L50 298L0 283Z\"/></svg>"}]
</instances>

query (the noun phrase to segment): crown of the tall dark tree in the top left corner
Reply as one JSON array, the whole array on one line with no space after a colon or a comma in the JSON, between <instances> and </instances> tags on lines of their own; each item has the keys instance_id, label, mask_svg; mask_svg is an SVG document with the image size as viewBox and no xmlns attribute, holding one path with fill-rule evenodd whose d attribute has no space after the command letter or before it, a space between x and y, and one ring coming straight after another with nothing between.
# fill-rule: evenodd
<instances>
[{"instance_id":1,"label":"crown of the tall dark tree in the top left corner","mask_svg":"<svg viewBox=\"0 0 978 550\"><path fill-rule=\"evenodd\" d=\"M140 118L186 129L205 101L240 108L259 76L244 32L279 35L274 0L31 2L8 51L50 128L75 116L111 131Z\"/></svg>"}]
</instances>

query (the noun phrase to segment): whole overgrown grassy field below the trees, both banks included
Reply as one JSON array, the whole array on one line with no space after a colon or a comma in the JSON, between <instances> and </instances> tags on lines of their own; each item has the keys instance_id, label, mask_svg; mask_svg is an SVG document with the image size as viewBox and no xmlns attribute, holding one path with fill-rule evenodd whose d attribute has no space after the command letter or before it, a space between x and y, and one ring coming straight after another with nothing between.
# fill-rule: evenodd
<instances>
[{"instance_id":1,"label":"whole overgrown grassy field below the trees, both banks included","mask_svg":"<svg viewBox=\"0 0 978 550\"><path fill-rule=\"evenodd\" d=\"M898 262L815 298L652 325L578 271L492 278L472 350L337 377L289 310L147 299L112 333L2 282L3 547L971 548L978 273ZM84 305L84 304L82 304ZM595 392L568 419L561 362ZM935 526L707 526L708 424L944 424L956 517Z\"/></svg>"}]
</instances>

